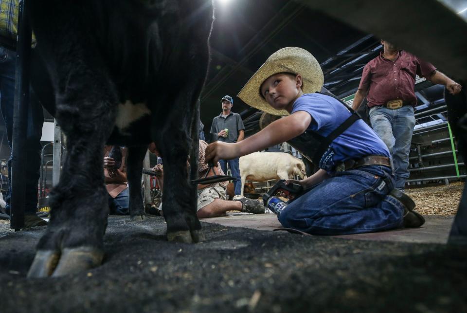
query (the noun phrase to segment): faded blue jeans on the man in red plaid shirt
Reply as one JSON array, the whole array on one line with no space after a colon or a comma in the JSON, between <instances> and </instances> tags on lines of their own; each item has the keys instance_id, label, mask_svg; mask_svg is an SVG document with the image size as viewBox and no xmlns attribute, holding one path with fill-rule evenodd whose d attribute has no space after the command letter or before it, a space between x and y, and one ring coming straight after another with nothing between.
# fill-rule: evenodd
<instances>
[{"instance_id":1,"label":"faded blue jeans on the man in red plaid shirt","mask_svg":"<svg viewBox=\"0 0 467 313\"><path fill-rule=\"evenodd\" d=\"M403 106L396 110L373 107L370 109L370 122L391 153L395 188L404 190L405 181L410 174L409 152L415 126L413 107Z\"/></svg>"}]
</instances>

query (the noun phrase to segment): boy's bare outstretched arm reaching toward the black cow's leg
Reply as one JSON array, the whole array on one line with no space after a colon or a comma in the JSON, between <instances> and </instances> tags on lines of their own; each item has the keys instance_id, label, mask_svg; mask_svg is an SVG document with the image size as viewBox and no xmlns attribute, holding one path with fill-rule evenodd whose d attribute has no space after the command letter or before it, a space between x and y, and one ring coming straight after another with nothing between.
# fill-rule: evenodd
<instances>
[{"instance_id":1,"label":"boy's bare outstretched arm reaching toward the black cow's leg","mask_svg":"<svg viewBox=\"0 0 467 313\"><path fill-rule=\"evenodd\" d=\"M310 125L311 115L305 111L297 111L291 115L272 122L266 128L235 144L216 141L206 148L206 162L231 160L267 147L283 143L301 135Z\"/></svg>"}]
</instances>

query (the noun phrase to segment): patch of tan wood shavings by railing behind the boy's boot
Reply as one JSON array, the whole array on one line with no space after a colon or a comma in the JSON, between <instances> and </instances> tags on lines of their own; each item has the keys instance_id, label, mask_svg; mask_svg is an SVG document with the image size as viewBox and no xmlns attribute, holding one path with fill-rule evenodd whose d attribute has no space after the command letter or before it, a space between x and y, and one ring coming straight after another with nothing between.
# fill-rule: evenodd
<instances>
[{"instance_id":1,"label":"patch of tan wood shavings by railing behind the boy's boot","mask_svg":"<svg viewBox=\"0 0 467 313\"><path fill-rule=\"evenodd\" d=\"M423 215L455 215L461 199L463 182L449 185L406 189L415 201L416 210Z\"/></svg>"}]
</instances>

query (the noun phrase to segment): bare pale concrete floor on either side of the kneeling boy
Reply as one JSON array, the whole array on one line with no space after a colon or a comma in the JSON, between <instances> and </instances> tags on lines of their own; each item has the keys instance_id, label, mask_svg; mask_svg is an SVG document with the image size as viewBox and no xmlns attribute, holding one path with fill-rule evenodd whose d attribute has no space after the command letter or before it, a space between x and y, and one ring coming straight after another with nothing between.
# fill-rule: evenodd
<instances>
[{"instance_id":1,"label":"bare pale concrete floor on either side of the kneeling boy","mask_svg":"<svg viewBox=\"0 0 467 313\"><path fill-rule=\"evenodd\" d=\"M418 242L418 243L446 243L451 229L453 216L426 215L426 222L420 228L400 228L391 231L333 236L347 239L359 240L384 240L398 242ZM229 213L227 216L202 219L208 223L218 223L224 226L245 227L258 230L274 230L282 228L274 214L244 214Z\"/></svg>"}]
</instances>

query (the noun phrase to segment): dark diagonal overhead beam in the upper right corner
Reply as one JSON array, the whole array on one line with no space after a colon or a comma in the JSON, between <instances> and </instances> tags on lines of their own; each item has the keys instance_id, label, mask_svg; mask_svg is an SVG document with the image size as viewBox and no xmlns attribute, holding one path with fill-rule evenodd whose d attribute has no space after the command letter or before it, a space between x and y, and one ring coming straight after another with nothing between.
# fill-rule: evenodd
<instances>
[{"instance_id":1,"label":"dark diagonal overhead beam in the upper right corner","mask_svg":"<svg viewBox=\"0 0 467 313\"><path fill-rule=\"evenodd\" d=\"M467 23L437 0L296 0L467 78Z\"/></svg>"}]
</instances>

